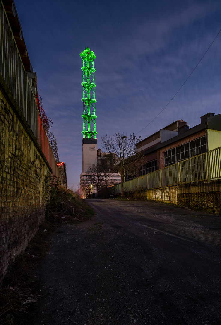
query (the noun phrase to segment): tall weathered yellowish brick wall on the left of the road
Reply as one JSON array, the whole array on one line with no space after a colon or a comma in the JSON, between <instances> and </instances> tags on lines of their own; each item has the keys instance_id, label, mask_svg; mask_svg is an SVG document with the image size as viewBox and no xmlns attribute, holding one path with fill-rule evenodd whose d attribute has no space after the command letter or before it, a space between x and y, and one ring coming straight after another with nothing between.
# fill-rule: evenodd
<instances>
[{"instance_id":1,"label":"tall weathered yellowish brick wall on the left of the road","mask_svg":"<svg viewBox=\"0 0 221 325\"><path fill-rule=\"evenodd\" d=\"M2 282L7 266L25 250L44 220L50 190L47 179L51 178L52 168L4 80L0 81Z\"/></svg>"}]
</instances>

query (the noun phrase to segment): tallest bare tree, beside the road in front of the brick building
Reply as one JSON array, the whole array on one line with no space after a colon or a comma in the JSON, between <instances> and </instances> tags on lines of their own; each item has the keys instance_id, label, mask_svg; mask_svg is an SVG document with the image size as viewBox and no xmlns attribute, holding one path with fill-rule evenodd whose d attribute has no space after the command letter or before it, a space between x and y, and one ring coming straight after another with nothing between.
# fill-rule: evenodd
<instances>
[{"instance_id":1,"label":"tallest bare tree, beside the road in front of the brick building","mask_svg":"<svg viewBox=\"0 0 221 325\"><path fill-rule=\"evenodd\" d=\"M107 152L112 153L112 165L121 175L121 195L123 196L123 182L125 172L133 173L142 159L141 153L136 153L136 144L141 141L135 134L125 136L118 131L114 137L108 135L101 137L101 146Z\"/></svg>"}]
</instances>

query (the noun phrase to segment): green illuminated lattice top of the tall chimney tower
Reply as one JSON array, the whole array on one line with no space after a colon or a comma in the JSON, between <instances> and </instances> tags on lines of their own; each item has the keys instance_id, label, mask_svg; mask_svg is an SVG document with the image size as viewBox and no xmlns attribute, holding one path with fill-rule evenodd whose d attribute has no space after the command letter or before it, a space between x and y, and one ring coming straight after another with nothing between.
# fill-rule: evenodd
<instances>
[{"instance_id":1,"label":"green illuminated lattice top of the tall chimney tower","mask_svg":"<svg viewBox=\"0 0 221 325\"><path fill-rule=\"evenodd\" d=\"M90 51L89 47L86 47L83 52L80 54L83 59L83 101L84 112L81 115L83 117L83 138L88 139L96 139L96 123L95 119L97 116L95 115L95 83L94 83L94 59L96 56L93 51Z\"/></svg>"}]
</instances>

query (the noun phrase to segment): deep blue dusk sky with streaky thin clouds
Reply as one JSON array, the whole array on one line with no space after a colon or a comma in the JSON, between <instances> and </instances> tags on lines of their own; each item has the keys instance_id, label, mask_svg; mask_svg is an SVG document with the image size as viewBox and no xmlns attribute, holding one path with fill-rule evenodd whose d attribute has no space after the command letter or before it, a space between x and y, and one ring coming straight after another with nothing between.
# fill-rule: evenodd
<instances>
[{"instance_id":1,"label":"deep blue dusk sky with streaky thin clouds","mask_svg":"<svg viewBox=\"0 0 221 325\"><path fill-rule=\"evenodd\" d=\"M43 109L70 188L82 171L82 59L95 59L98 148L103 135L143 129L175 95L221 29L221 2L15 0ZM165 110L137 136L221 113L221 32Z\"/></svg>"}]
</instances>

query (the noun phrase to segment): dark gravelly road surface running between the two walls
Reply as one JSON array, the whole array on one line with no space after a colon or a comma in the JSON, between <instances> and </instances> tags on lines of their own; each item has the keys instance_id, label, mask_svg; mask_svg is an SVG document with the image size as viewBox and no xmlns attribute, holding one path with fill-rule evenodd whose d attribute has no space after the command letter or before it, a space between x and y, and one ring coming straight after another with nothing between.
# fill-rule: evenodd
<instances>
[{"instance_id":1,"label":"dark gravelly road surface running between the two walls","mask_svg":"<svg viewBox=\"0 0 221 325\"><path fill-rule=\"evenodd\" d=\"M31 325L220 325L221 216L90 199L90 221L57 228L35 276Z\"/></svg>"}]
</instances>

